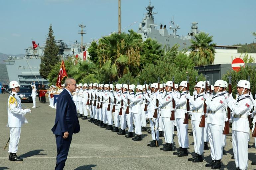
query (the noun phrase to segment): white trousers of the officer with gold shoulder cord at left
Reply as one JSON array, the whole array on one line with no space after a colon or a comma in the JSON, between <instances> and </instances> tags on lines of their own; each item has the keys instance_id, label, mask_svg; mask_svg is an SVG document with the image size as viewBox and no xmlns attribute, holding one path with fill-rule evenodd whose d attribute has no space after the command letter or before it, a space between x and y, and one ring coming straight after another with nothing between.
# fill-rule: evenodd
<instances>
[{"instance_id":1,"label":"white trousers of the officer with gold shoulder cord at left","mask_svg":"<svg viewBox=\"0 0 256 170\"><path fill-rule=\"evenodd\" d=\"M9 151L8 153L17 153L18 144L20 141L21 127L10 128L10 142L9 142Z\"/></svg>"}]
</instances>

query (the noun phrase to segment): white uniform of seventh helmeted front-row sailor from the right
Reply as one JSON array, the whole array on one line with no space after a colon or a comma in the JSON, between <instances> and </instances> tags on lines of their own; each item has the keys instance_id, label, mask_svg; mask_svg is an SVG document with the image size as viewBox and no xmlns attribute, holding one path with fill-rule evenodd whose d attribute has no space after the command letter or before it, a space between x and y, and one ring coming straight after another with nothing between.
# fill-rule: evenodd
<instances>
[{"instance_id":1,"label":"white uniform of seventh helmeted front-row sailor from the right","mask_svg":"<svg viewBox=\"0 0 256 170\"><path fill-rule=\"evenodd\" d=\"M135 134L141 135L141 105L143 103L144 95L142 94L142 92L138 92L136 93L135 97L133 97L133 95L130 95L128 98L130 99L130 104L132 106L131 113L135 120Z\"/></svg>"}]
</instances>

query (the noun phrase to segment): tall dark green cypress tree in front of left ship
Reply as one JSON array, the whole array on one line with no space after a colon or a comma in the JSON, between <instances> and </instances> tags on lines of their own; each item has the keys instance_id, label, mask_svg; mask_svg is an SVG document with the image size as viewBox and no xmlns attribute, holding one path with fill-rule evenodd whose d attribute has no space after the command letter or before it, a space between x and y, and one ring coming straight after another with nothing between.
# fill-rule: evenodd
<instances>
[{"instance_id":1,"label":"tall dark green cypress tree in front of left ship","mask_svg":"<svg viewBox=\"0 0 256 170\"><path fill-rule=\"evenodd\" d=\"M39 73L42 76L42 78L47 80L47 77L50 71L54 68L54 65L60 61L61 56L59 56L58 53L59 53L59 47L55 44L53 29L51 24L48 32L48 37L46 38L44 56L41 57Z\"/></svg>"}]
</instances>

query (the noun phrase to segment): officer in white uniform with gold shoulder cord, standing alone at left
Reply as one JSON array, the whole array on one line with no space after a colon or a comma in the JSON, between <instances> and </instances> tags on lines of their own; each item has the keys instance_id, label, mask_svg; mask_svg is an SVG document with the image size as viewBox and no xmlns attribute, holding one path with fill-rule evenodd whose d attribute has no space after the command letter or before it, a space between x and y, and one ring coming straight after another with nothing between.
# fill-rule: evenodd
<instances>
[{"instance_id":1,"label":"officer in white uniform with gold shoulder cord, standing alone at left","mask_svg":"<svg viewBox=\"0 0 256 170\"><path fill-rule=\"evenodd\" d=\"M26 113L31 113L29 108L22 109L21 100L18 96L20 91L20 85L16 81L11 81L9 87L12 92L8 98L7 114L8 114L8 124L7 127L10 128L10 143L9 143L9 160L10 161L23 161L22 158L16 155L18 151L18 144L20 140L21 126L24 123L28 123L25 118Z\"/></svg>"}]
</instances>

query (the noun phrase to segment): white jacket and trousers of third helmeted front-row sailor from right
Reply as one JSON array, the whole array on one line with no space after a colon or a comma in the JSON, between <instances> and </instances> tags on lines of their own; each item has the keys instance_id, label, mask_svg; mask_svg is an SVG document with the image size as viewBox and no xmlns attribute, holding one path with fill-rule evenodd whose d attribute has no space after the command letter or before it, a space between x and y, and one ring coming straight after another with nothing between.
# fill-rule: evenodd
<instances>
[{"instance_id":1,"label":"white jacket and trousers of third helmeted front-row sailor from right","mask_svg":"<svg viewBox=\"0 0 256 170\"><path fill-rule=\"evenodd\" d=\"M203 142L204 142L204 128L200 128L199 124L201 121L201 116L203 112L203 93L198 95L192 96L189 99L190 104L192 105L192 132L193 132L193 139L194 139L194 152L198 155L202 155L203 153Z\"/></svg>"}]
</instances>

